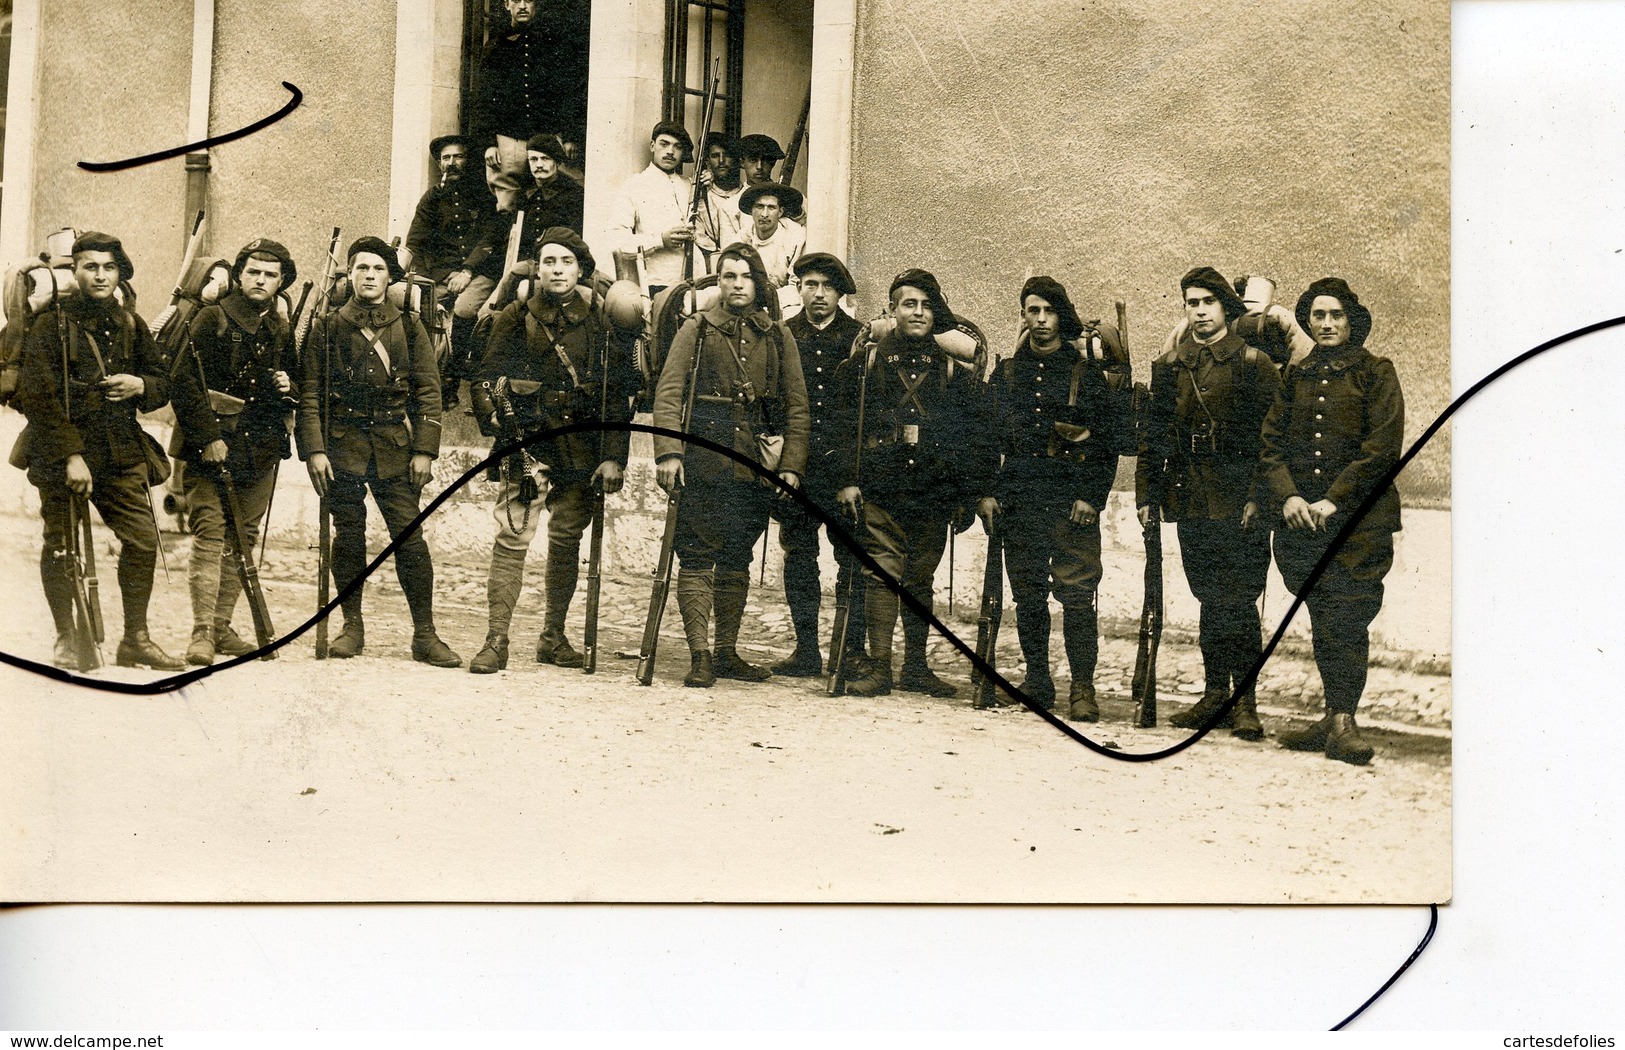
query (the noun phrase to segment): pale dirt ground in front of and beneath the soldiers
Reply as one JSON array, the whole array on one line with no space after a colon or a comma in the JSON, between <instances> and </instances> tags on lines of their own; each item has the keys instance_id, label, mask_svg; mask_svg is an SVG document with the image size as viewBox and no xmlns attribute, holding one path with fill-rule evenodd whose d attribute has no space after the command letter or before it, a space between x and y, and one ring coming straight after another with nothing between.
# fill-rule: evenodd
<instances>
[{"instance_id":1,"label":"pale dirt ground in front of and beneath the soldiers","mask_svg":"<svg viewBox=\"0 0 1625 1050\"><path fill-rule=\"evenodd\" d=\"M185 540L153 601L158 640L185 645ZM102 595L117 637L114 558ZM536 545L538 549L541 545ZM5 649L49 660L37 525L5 518ZM273 618L314 608L307 551L273 546ZM528 584L540 579L541 558ZM484 636L478 559L437 564L440 634L465 662ZM647 579L606 579L600 671L530 660L540 593L526 587L500 675L408 658L393 572L367 597L367 652L315 662L310 637L276 662L177 694L122 697L0 671L0 891L8 900L1029 900L1417 902L1450 896L1448 679L1391 670L1373 694L1433 710L1432 725L1373 731L1357 769L1280 749L1318 705L1308 662L1264 676L1269 736L1225 733L1157 762L1068 740L1024 707L968 705L967 665L933 647L962 686L824 696L821 679L684 689L676 603L656 681L632 662ZM826 610L826 619L829 610ZM249 634L247 611L237 626ZM826 632L827 634L827 632ZM967 629L973 634L973 626ZM788 649L775 588L752 590L748 657ZM1014 624L1001 666L1019 676ZM580 644L580 598L570 637ZM1056 639L1056 655L1060 639ZM112 655L112 644L107 645ZM1164 725L1128 725L1133 642L1108 637L1103 717L1077 727L1152 751L1199 692L1188 647L1164 649ZM153 678L109 668L102 678ZM1064 683L1063 683L1064 689ZM1422 704L1417 699L1422 697ZM1432 705L1432 707L1430 707ZM1381 707L1375 722L1383 723Z\"/></svg>"}]
</instances>

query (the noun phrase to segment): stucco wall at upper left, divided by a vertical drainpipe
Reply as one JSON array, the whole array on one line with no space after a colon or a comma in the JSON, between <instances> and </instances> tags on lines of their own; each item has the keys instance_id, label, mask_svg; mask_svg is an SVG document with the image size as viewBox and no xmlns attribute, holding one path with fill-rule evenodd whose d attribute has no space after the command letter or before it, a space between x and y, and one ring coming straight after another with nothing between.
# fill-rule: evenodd
<instances>
[{"instance_id":1,"label":"stucco wall at upper left, divided by a vertical drainpipe","mask_svg":"<svg viewBox=\"0 0 1625 1050\"><path fill-rule=\"evenodd\" d=\"M184 247L184 161L114 174L89 174L75 163L185 141L192 3L42 8L34 250L60 226L119 234L135 258L143 312L156 314ZM332 226L343 226L346 237L385 231L393 62L388 0L216 5L211 133L280 109L284 80L304 91L304 102L278 124L213 150L210 250L226 255L250 237L271 236L314 273ZM101 94L86 91L93 81Z\"/></svg>"}]
</instances>

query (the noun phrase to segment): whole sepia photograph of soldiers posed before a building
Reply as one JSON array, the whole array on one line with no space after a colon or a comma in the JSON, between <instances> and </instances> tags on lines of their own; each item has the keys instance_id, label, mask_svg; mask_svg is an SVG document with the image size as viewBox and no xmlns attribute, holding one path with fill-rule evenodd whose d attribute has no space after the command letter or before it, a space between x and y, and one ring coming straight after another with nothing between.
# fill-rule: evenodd
<instances>
[{"instance_id":1,"label":"whole sepia photograph of soldiers posed before a building","mask_svg":"<svg viewBox=\"0 0 1625 1050\"><path fill-rule=\"evenodd\" d=\"M0 900L1451 899L1450 5L0 13Z\"/></svg>"}]
</instances>

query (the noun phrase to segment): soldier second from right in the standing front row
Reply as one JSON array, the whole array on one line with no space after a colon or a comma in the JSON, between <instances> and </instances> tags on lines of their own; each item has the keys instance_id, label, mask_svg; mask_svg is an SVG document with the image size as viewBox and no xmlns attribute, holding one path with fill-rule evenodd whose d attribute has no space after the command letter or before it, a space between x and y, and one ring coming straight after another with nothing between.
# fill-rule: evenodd
<instances>
[{"instance_id":1,"label":"soldier second from right in the standing front row","mask_svg":"<svg viewBox=\"0 0 1625 1050\"><path fill-rule=\"evenodd\" d=\"M1258 598L1269 572L1269 527L1258 515L1259 427L1280 377L1233 322L1246 312L1211 267L1180 281L1190 328L1150 366L1150 426L1134 471L1141 525L1178 523L1180 558L1201 603L1202 699L1168 718L1194 728L1230 699L1258 662ZM1259 740L1254 689L1237 702L1230 731Z\"/></svg>"}]
</instances>

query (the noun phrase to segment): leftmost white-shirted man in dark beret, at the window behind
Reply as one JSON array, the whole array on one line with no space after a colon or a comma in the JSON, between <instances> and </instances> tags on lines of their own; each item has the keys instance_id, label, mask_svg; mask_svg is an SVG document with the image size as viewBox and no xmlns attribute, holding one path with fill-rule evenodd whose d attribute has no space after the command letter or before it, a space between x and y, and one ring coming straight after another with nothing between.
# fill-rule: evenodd
<instances>
[{"instance_id":1,"label":"leftmost white-shirted man in dark beret, at the window behind","mask_svg":"<svg viewBox=\"0 0 1625 1050\"><path fill-rule=\"evenodd\" d=\"M694 140L681 124L656 124L648 133L648 167L621 184L611 211L609 241L618 252L644 255L650 293L682 280L682 254L694 245L694 184L681 174L692 151Z\"/></svg>"}]
</instances>

